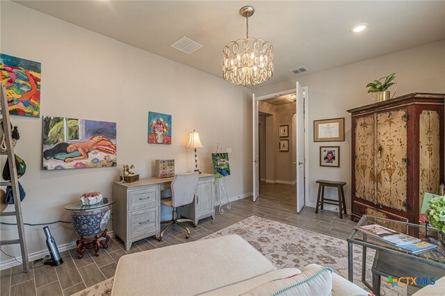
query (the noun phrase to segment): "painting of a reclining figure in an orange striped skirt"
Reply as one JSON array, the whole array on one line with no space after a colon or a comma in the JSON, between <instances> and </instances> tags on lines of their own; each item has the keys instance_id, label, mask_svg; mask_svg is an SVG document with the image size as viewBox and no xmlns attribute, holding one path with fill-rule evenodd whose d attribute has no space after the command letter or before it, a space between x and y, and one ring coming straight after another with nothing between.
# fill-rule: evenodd
<instances>
[{"instance_id":1,"label":"painting of a reclining figure in an orange striped skirt","mask_svg":"<svg viewBox=\"0 0 445 296\"><path fill-rule=\"evenodd\" d=\"M115 167L116 123L43 117L43 169Z\"/></svg>"}]
</instances>

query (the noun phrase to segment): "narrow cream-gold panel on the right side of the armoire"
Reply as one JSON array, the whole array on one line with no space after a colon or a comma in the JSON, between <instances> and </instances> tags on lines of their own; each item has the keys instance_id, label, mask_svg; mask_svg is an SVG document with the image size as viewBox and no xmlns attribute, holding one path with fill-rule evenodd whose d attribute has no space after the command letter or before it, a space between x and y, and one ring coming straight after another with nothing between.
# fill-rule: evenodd
<instances>
[{"instance_id":1,"label":"narrow cream-gold panel on the right side of the armoire","mask_svg":"<svg viewBox=\"0 0 445 296\"><path fill-rule=\"evenodd\" d=\"M419 208L425 192L439 192L440 116L437 111L423 110L419 116Z\"/></svg>"}]
</instances>

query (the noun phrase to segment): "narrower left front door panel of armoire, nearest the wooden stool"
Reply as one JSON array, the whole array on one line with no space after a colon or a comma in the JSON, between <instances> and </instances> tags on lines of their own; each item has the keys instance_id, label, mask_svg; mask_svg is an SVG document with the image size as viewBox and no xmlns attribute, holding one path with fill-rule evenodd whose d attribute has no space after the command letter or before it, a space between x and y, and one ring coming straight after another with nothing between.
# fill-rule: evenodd
<instances>
[{"instance_id":1,"label":"narrower left front door panel of armoire, nearest the wooden stool","mask_svg":"<svg viewBox=\"0 0 445 296\"><path fill-rule=\"evenodd\" d=\"M355 197L375 203L375 115L355 120Z\"/></svg>"}]
</instances>

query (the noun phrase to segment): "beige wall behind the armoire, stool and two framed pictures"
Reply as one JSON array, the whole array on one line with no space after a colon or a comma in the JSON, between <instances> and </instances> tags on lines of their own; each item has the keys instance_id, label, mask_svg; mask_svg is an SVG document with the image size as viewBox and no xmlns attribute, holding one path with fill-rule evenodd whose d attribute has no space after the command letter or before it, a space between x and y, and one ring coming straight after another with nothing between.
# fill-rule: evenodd
<instances>
[{"instance_id":1,"label":"beige wall behind the armoire, stool and two framed pictures","mask_svg":"<svg viewBox=\"0 0 445 296\"><path fill-rule=\"evenodd\" d=\"M311 65L307 65L309 71ZM254 91L257 97L295 88L295 82L309 87L309 206L316 203L318 179L346 181L346 205L350 208L350 114L346 110L371 104L371 95L366 93L366 84L396 72L397 96L411 92L445 93L445 40L421 47L398 51L394 54L363 60L343 67L330 69L295 79L265 85ZM344 142L314 142L314 120L345 117ZM340 146L339 168L320 167L319 147ZM328 192L327 194L335 194Z\"/></svg>"}]
</instances>

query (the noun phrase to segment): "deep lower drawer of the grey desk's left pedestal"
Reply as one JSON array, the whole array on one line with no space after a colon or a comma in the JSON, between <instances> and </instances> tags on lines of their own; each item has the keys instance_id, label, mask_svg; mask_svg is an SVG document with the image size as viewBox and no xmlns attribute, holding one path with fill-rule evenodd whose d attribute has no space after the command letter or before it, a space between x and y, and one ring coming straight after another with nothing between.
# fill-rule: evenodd
<instances>
[{"instance_id":1,"label":"deep lower drawer of the grey desk's left pedestal","mask_svg":"<svg viewBox=\"0 0 445 296\"><path fill-rule=\"evenodd\" d=\"M134 211L129 214L129 238L148 236L156 232L156 220L159 219L157 208Z\"/></svg>"}]
</instances>

